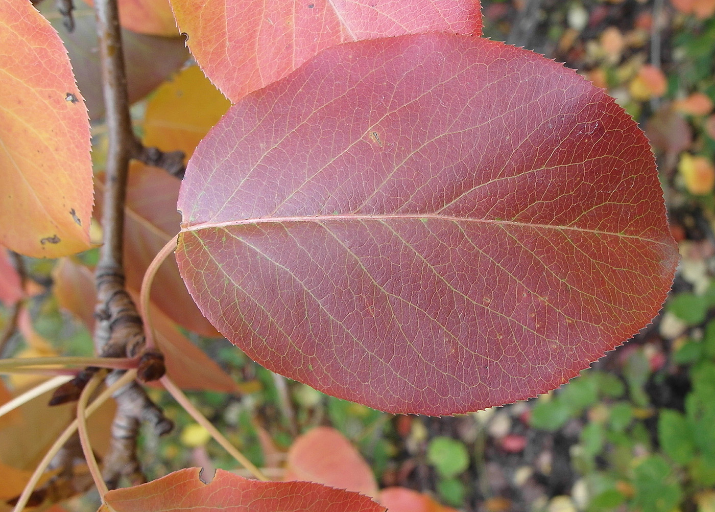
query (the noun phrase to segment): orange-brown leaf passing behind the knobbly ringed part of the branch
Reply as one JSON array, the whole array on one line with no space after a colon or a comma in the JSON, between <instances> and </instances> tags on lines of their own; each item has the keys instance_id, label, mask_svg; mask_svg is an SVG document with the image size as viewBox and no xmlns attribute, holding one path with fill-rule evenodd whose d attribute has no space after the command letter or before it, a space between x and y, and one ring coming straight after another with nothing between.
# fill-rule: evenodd
<instances>
[{"instance_id":1,"label":"orange-brown leaf passing behind the knobbly ringed part of the branch","mask_svg":"<svg viewBox=\"0 0 715 512\"><path fill-rule=\"evenodd\" d=\"M59 305L82 320L92 332L92 312L97 302L92 271L71 260L64 260L55 268L53 277L54 295ZM136 301L136 292L133 297ZM176 323L158 307L152 305L151 315L157 345L164 353L167 373L179 388L222 393L235 393L240 390L240 386L208 355L191 343Z\"/></svg>"}]
</instances>

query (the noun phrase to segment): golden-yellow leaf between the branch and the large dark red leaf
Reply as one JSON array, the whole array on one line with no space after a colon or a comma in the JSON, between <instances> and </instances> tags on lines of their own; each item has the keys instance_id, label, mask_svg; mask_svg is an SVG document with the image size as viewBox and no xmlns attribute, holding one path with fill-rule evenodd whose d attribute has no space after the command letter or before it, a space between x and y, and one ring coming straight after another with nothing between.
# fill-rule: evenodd
<instances>
[{"instance_id":1,"label":"golden-yellow leaf between the branch and the large dark red leaf","mask_svg":"<svg viewBox=\"0 0 715 512\"><path fill-rule=\"evenodd\" d=\"M188 158L230 106L198 66L182 69L149 99L144 144L162 151L180 149Z\"/></svg>"}]
</instances>

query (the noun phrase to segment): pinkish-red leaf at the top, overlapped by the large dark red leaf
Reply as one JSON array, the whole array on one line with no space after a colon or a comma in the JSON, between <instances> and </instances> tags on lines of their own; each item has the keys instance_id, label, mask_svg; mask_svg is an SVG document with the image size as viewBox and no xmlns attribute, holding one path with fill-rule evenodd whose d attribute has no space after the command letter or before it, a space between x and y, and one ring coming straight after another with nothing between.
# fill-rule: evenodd
<instances>
[{"instance_id":1,"label":"pinkish-red leaf at the top, overlapped by the large dark red leaf","mask_svg":"<svg viewBox=\"0 0 715 512\"><path fill-rule=\"evenodd\" d=\"M232 102L345 41L481 34L478 0L170 0L207 77Z\"/></svg>"}]
</instances>

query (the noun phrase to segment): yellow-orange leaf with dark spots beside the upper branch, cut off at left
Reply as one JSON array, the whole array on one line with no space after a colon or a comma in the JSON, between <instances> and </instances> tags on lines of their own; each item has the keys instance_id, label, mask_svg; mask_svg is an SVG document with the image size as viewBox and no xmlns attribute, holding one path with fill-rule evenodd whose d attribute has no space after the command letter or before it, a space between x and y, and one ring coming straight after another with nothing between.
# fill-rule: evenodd
<instances>
[{"instance_id":1,"label":"yellow-orange leaf with dark spots beside the upper branch, cut off at left","mask_svg":"<svg viewBox=\"0 0 715 512\"><path fill-rule=\"evenodd\" d=\"M66 50L29 1L7 0L0 48L0 243L34 257L86 250L89 119Z\"/></svg>"}]
</instances>

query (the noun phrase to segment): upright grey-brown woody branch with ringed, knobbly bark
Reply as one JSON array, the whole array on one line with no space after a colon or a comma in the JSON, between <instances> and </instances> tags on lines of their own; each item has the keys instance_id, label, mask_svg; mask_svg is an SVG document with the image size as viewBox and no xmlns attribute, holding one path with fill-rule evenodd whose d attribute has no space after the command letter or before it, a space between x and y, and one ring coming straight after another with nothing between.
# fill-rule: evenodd
<instances>
[{"instance_id":1,"label":"upright grey-brown woody branch with ringed, knobbly bark","mask_svg":"<svg viewBox=\"0 0 715 512\"><path fill-rule=\"evenodd\" d=\"M97 281L97 328L94 343L104 357L134 357L144 348L144 328L131 297L124 288L124 202L127 195L129 159L137 152L137 138L132 131L127 94L127 74L122 52L117 0L95 0L99 55L102 62L102 91L107 122L106 187L102 227L104 245L95 273ZM155 360L153 360L155 363ZM152 376L162 368L149 365ZM116 380L113 372L108 383ZM121 476L132 483L144 480L137 461L139 423L147 422L158 434L166 433L172 423L134 381L115 396L117 414L112 425L112 447L104 465L104 479L113 488Z\"/></svg>"}]
</instances>

